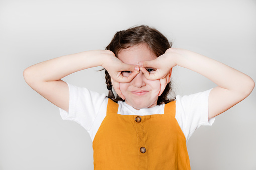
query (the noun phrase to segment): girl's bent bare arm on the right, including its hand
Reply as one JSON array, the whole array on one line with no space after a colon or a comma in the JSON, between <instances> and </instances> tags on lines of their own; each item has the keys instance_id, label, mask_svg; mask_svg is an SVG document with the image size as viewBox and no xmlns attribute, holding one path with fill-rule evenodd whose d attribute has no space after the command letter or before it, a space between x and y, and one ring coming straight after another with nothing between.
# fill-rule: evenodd
<instances>
[{"instance_id":1,"label":"girl's bent bare arm on the right, including its hand","mask_svg":"<svg viewBox=\"0 0 256 170\"><path fill-rule=\"evenodd\" d=\"M151 80L166 79L165 75L176 65L195 71L217 84L209 94L209 119L242 101L254 88L254 81L249 76L216 60L184 49L170 48L155 60L139 63L140 67L157 69L154 74L141 69Z\"/></svg>"}]
</instances>

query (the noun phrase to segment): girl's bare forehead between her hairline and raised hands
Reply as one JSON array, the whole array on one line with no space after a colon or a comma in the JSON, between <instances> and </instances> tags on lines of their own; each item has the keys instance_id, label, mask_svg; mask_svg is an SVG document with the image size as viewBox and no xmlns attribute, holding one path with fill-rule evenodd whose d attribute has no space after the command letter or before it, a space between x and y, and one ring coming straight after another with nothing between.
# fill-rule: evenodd
<instances>
[{"instance_id":1,"label":"girl's bare forehead between her hairline and raised hands","mask_svg":"<svg viewBox=\"0 0 256 170\"><path fill-rule=\"evenodd\" d=\"M144 44L121 49L117 54L119 60L126 64L137 65L140 61L148 61L156 59L152 51Z\"/></svg>"}]
</instances>

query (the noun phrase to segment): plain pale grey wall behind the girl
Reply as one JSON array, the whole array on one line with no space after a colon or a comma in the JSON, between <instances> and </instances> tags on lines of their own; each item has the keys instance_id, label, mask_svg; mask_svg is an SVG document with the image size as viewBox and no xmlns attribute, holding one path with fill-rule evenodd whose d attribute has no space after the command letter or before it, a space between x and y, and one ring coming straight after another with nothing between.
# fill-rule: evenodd
<instances>
[{"instance_id":1,"label":"plain pale grey wall behind the girl","mask_svg":"<svg viewBox=\"0 0 256 170\"><path fill-rule=\"evenodd\" d=\"M173 47L231 66L256 80L256 2L228 1L0 1L0 170L93 169L92 141L80 125L33 91L23 70L51 58L105 49L117 31L158 29ZM63 80L106 93L101 68ZM177 94L216 85L175 67ZM200 127L188 141L191 167L256 169L256 93Z\"/></svg>"}]
</instances>

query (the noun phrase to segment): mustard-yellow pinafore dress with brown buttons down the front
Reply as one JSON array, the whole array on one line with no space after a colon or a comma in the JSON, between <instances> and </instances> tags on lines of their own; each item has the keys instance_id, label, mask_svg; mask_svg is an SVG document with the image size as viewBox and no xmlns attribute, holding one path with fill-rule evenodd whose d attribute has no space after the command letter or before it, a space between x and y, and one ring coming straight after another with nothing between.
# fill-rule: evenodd
<instances>
[{"instance_id":1,"label":"mustard-yellow pinafore dress with brown buttons down the front","mask_svg":"<svg viewBox=\"0 0 256 170\"><path fill-rule=\"evenodd\" d=\"M175 118L175 101L164 114L117 114L109 99L94 141L94 169L190 169L186 139Z\"/></svg>"}]
</instances>

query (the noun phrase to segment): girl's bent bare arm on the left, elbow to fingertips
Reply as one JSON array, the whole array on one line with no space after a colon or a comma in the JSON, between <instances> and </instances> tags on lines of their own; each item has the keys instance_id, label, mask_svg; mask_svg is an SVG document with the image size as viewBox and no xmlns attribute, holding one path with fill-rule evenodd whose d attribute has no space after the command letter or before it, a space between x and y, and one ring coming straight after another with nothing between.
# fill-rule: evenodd
<instances>
[{"instance_id":1,"label":"girl's bent bare arm on the left, elbow to fingertips","mask_svg":"<svg viewBox=\"0 0 256 170\"><path fill-rule=\"evenodd\" d=\"M131 81L139 70L137 66L122 63L111 51L92 50L35 64L25 69L23 75L31 88L56 106L68 111L69 89L61 78L96 66L107 69L112 79L117 82ZM133 71L134 74L123 77L121 71L124 70Z\"/></svg>"}]
</instances>

